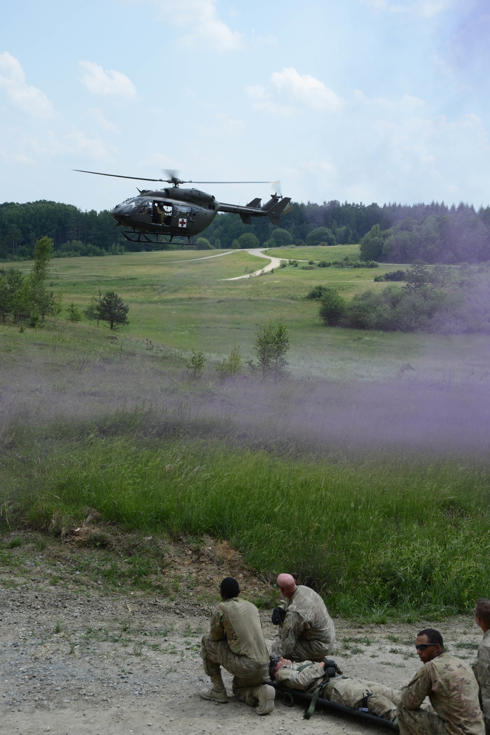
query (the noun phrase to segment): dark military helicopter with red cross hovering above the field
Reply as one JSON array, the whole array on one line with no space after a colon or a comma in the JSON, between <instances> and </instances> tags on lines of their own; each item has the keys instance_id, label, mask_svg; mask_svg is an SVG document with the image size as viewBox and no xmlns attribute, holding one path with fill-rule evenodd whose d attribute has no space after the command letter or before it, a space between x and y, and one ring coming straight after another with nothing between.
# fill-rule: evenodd
<instances>
[{"instance_id":1,"label":"dark military helicopter with red cross hovering above the field","mask_svg":"<svg viewBox=\"0 0 490 735\"><path fill-rule=\"evenodd\" d=\"M193 182L183 181L168 171L169 179L144 179L140 176L120 176L117 173L100 173L74 168L80 173L94 173L96 176L114 176L117 179L134 179L145 182L172 184L164 189L142 189L139 195L130 197L111 209L117 225L127 227L122 234L131 243L171 243L174 237L187 237L189 244L193 235L200 234L210 226L218 212L238 214L246 225L252 224L253 217L268 217L273 225L281 224L281 215L287 214L291 207L290 197L272 194L269 201L260 207L259 197L245 206L224 204L216 201L212 194L199 189L180 189L180 184L277 184L277 182ZM137 187L136 187L137 188ZM160 237L169 240L160 240Z\"/></svg>"}]
</instances>

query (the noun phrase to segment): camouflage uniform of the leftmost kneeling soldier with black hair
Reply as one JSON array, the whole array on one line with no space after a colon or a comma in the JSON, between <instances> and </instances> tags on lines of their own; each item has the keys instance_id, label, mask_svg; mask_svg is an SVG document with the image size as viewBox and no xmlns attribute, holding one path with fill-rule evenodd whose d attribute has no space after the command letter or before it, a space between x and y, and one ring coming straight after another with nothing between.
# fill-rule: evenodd
<instances>
[{"instance_id":1,"label":"camouflage uniform of the leftmost kneeling soldier with black hair","mask_svg":"<svg viewBox=\"0 0 490 735\"><path fill-rule=\"evenodd\" d=\"M268 681L268 652L260 614L251 602L230 598L213 610L211 632L202 637L202 665L208 676L233 674L233 694L252 707L252 688Z\"/></svg>"}]
</instances>

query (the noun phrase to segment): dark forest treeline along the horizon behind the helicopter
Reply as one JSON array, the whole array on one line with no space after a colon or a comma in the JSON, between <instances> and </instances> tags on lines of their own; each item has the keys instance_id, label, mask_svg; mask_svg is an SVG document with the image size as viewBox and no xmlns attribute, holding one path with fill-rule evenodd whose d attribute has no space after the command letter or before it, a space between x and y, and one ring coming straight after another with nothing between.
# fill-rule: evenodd
<instances>
[{"instance_id":1,"label":"dark forest treeline along the horizon behind the helicopter","mask_svg":"<svg viewBox=\"0 0 490 735\"><path fill-rule=\"evenodd\" d=\"M490 207L438 204L323 204L295 202L282 227L268 218L244 225L238 215L217 215L194 247L250 248L360 243L363 260L479 263L490 260ZM0 204L0 259L32 257L34 243L51 237L54 255L104 255L168 250L172 245L129 243L107 209L82 212L71 204L34 201Z\"/></svg>"}]
</instances>

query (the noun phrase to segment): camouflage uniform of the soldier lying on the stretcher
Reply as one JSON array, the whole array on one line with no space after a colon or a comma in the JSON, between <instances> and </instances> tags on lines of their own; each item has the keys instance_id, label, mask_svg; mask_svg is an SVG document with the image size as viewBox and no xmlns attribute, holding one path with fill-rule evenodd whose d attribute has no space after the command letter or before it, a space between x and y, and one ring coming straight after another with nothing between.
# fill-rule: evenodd
<instances>
[{"instance_id":1,"label":"camouflage uniform of the soldier lying on the stretcher","mask_svg":"<svg viewBox=\"0 0 490 735\"><path fill-rule=\"evenodd\" d=\"M320 686L320 696L345 707L367 707L371 714L392 722L396 717L396 705L400 701L398 689L363 681L348 676L335 676L330 681L323 678L320 664L303 661L302 664L285 664L276 674L279 684L291 689L303 689L312 694Z\"/></svg>"}]
</instances>

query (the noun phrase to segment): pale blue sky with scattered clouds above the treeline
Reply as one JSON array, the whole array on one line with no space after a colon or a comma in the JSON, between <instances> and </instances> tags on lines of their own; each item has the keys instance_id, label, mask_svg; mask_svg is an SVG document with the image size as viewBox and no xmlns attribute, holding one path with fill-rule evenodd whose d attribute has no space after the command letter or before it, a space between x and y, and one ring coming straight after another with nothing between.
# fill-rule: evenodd
<instances>
[{"instance_id":1,"label":"pale blue sky with scattered clouds above the treeline","mask_svg":"<svg viewBox=\"0 0 490 735\"><path fill-rule=\"evenodd\" d=\"M0 0L0 202L490 204L483 0Z\"/></svg>"}]
</instances>

